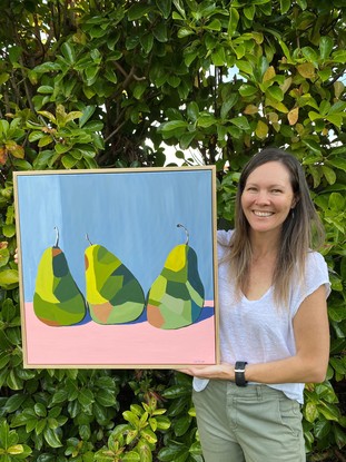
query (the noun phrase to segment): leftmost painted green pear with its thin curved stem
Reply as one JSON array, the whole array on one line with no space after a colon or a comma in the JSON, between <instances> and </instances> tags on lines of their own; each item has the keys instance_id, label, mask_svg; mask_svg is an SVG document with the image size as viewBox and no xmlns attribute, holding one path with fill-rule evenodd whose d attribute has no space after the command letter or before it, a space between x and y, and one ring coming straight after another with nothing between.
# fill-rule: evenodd
<instances>
[{"instance_id":1,"label":"leftmost painted green pear with its thin curved stem","mask_svg":"<svg viewBox=\"0 0 346 462\"><path fill-rule=\"evenodd\" d=\"M33 311L49 326L70 326L80 323L87 314L87 304L59 248L59 230L53 247L48 247L40 259L33 294Z\"/></svg>"}]
</instances>

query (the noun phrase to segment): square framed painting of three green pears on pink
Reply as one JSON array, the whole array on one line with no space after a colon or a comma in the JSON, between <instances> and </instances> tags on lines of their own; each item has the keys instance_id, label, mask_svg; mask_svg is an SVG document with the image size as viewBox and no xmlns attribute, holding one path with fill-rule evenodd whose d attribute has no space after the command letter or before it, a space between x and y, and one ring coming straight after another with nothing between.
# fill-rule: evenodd
<instances>
[{"instance_id":1,"label":"square framed painting of three green pears on pink","mask_svg":"<svg viewBox=\"0 0 346 462\"><path fill-rule=\"evenodd\" d=\"M24 367L218 362L215 176L14 173Z\"/></svg>"}]
</instances>

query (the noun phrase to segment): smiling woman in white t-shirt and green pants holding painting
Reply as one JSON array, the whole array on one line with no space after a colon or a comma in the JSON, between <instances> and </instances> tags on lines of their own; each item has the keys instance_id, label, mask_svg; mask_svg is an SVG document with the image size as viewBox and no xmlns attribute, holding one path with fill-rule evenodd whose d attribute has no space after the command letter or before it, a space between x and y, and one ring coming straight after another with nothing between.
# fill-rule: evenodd
<instances>
[{"instance_id":1,"label":"smiling woman in white t-shirt and green pants holding painting","mask_svg":"<svg viewBox=\"0 0 346 462\"><path fill-rule=\"evenodd\" d=\"M245 166L234 232L218 232L221 363L192 366L205 462L301 462L304 383L329 357L326 263L304 171L264 149Z\"/></svg>"}]
</instances>

